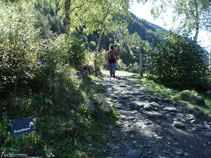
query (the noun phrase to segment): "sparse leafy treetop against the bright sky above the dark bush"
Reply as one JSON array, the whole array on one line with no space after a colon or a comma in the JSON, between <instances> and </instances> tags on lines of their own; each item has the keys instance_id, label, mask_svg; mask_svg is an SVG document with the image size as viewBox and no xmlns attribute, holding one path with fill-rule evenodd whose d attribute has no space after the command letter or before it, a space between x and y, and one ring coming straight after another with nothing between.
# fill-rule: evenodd
<instances>
[{"instance_id":1,"label":"sparse leafy treetop against the bright sky above the dark bush","mask_svg":"<svg viewBox=\"0 0 211 158\"><path fill-rule=\"evenodd\" d=\"M209 0L159 0L154 2L155 7L152 13L155 17L165 13L168 8L173 9L173 21L179 21L180 26L178 30L183 33L194 34L194 41L198 39L199 30L203 28L203 22L210 19L210 4ZM208 13L208 14L205 14ZM204 15L204 16L203 16ZM207 25L209 29L209 25Z\"/></svg>"}]
</instances>

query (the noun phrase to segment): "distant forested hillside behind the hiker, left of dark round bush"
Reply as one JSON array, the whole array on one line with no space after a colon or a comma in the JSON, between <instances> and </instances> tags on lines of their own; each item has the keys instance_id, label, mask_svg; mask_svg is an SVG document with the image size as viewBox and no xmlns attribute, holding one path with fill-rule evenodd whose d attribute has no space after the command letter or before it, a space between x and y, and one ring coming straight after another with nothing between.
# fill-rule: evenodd
<instances>
[{"instance_id":1,"label":"distant forested hillside behind the hiker, left of dark round bush","mask_svg":"<svg viewBox=\"0 0 211 158\"><path fill-rule=\"evenodd\" d=\"M146 54L144 48L156 46L158 41L164 38L164 33L166 31L161 30L158 26L138 19L133 14L131 14L131 16L133 17L133 20L131 21L125 17L126 21L128 21L129 34L126 34L124 29L118 27L117 31L114 31L107 36L102 36L102 42L100 45L101 49L103 48L108 50L110 43L115 44L118 57L121 59L121 61L118 61L117 64L117 67L120 70L131 71L131 69L127 69L126 67L128 67L130 64L132 66L134 63L139 63L140 54ZM92 41L97 42L97 40L98 35L96 32L94 32L93 35L88 36L89 43L92 43ZM94 50L91 45L90 48ZM145 58L147 54L143 56Z\"/></svg>"}]
</instances>

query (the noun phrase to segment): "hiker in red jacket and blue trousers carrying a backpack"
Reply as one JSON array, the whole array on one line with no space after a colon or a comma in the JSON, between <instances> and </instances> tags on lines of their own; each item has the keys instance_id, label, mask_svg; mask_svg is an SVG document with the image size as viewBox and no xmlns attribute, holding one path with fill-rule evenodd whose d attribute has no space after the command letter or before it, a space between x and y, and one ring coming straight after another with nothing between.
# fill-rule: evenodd
<instances>
[{"instance_id":1,"label":"hiker in red jacket and blue trousers carrying a backpack","mask_svg":"<svg viewBox=\"0 0 211 158\"><path fill-rule=\"evenodd\" d=\"M107 55L107 60L109 63L109 69L110 69L110 76L115 77L115 71L116 71L116 62L117 62L117 51L114 47L113 44L110 44L109 50L108 50L108 55Z\"/></svg>"}]
</instances>

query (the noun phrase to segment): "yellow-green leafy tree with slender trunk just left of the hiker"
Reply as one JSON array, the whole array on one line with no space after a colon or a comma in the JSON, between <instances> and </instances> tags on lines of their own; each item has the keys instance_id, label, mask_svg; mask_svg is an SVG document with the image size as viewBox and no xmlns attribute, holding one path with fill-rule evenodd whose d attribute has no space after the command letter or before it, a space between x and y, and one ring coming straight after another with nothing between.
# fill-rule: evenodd
<instances>
[{"instance_id":1,"label":"yellow-green leafy tree with slender trunk just left of the hiker","mask_svg":"<svg viewBox=\"0 0 211 158\"><path fill-rule=\"evenodd\" d=\"M121 22L120 15L128 15L128 1L107 0L107 1L71 1L61 2L62 10L66 17L66 32L74 32L83 27L83 32L92 34L98 31L98 41L95 50L95 72L97 73L97 52L99 50L102 35L110 33ZM71 17L71 18L70 18Z\"/></svg>"}]
</instances>

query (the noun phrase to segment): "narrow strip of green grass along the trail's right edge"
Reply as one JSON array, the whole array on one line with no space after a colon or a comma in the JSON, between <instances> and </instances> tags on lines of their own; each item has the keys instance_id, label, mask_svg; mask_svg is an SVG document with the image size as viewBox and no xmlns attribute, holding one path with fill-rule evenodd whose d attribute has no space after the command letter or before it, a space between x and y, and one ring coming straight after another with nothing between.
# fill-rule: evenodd
<instances>
[{"instance_id":1,"label":"narrow strip of green grass along the trail's right edge","mask_svg":"<svg viewBox=\"0 0 211 158\"><path fill-rule=\"evenodd\" d=\"M156 97L166 98L167 101L177 105L187 106L189 108L197 107L205 115L211 114L211 97L206 93L198 93L191 90L188 94L183 94L182 91L168 88L160 83L156 83L153 77L144 75L140 77L136 75L135 79L141 87L151 95ZM189 99L190 95L203 96L206 106L202 107Z\"/></svg>"}]
</instances>

